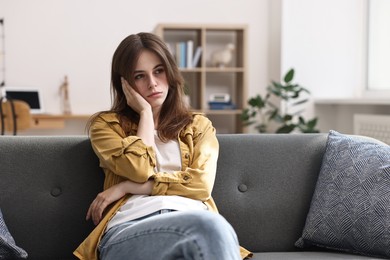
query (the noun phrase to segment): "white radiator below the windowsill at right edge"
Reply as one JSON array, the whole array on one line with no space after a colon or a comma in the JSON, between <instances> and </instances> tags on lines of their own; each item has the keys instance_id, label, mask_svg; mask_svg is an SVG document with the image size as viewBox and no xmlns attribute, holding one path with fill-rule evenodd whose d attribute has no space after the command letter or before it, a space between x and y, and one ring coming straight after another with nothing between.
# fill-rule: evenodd
<instances>
[{"instance_id":1,"label":"white radiator below the windowsill at right edge","mask_svg":"<svg viewBox=\"0 0 390 260\"><path fill-rule=\"evenodd\" d=\"M390 115L355 114L353 132L373 137L390 145Z\"/></svg>"}]
</instances>

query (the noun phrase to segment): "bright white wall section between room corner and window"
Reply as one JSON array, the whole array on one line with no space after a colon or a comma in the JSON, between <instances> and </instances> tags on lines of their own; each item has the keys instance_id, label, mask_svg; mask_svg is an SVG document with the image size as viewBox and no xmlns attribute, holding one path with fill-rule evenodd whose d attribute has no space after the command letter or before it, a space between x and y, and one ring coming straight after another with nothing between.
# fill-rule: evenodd
<instances>
[{"instance_id":1,"label":"bright white wall section between room corner and window","mask_svg":"<svg viewBox=\"0 0 390 260\"><path fill-rule=\"evenodd\" d=\"M365 87L365 0L283 0L282 71L314 98L353 98Z\"/></svg>"}]
</instances>

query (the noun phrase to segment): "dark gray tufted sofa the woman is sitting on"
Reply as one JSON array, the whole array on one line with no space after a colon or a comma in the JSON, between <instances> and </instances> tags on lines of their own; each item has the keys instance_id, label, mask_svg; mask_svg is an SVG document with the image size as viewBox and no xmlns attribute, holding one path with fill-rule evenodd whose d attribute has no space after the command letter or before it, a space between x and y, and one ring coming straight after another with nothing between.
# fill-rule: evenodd
<instances>
[{"instance_id":1,"label":"dark gray tufted sofa the woman is sitting on","mask_svg":"<svg viewBox=\"0 0 390 260\"><path fill-rule=\"evenodd\" d=\"M218 135L213 197L254 259L369 259L302 251L327 134ZM29 259L74 259L103 173L86 136L0 137L0 209ZM371 258L373 259L373 258Z\"/></svg>"}]
</instances>

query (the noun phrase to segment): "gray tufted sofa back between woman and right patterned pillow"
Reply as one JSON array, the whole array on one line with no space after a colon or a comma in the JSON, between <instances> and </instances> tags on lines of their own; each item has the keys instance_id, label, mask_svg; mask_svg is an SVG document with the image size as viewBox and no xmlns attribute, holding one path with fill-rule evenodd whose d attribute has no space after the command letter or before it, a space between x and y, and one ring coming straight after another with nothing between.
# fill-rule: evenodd
<instances>
[{"instance_id":1,"label":"gray tufted sofa back between woman and right patterned pillow","mask_svg":"<svg viewBox=\"0 0 390 260\"><path fill-rule=\"evenodd\" d=\"M292 251L309 210L326 134L221 135L213 191L240 243Z\"/></svg>"}]
</instances>

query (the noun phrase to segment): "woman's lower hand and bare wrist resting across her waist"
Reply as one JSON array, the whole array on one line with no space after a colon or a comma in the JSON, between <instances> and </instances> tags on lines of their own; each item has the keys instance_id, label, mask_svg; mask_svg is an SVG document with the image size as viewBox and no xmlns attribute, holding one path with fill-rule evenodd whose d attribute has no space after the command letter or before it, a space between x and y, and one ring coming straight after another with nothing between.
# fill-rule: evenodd
<instances>
[{"instance_id":1,"label":"woman's lower hand and bare wrist resting across her waist","mask_svg":"<svg viewBox=\"0 0 390 260\"><path fill-rule=\"evenodd\" d=\"M119 200L128 193L150 195L152 193L153 184L153 180L149 180L145 183L136 183L127 180L100 192L89 206L86 220L89 220L92 217L93 223L95 225L99 224L102 219L103 212L108 205Z\"/></svg>"}]
</instances>

